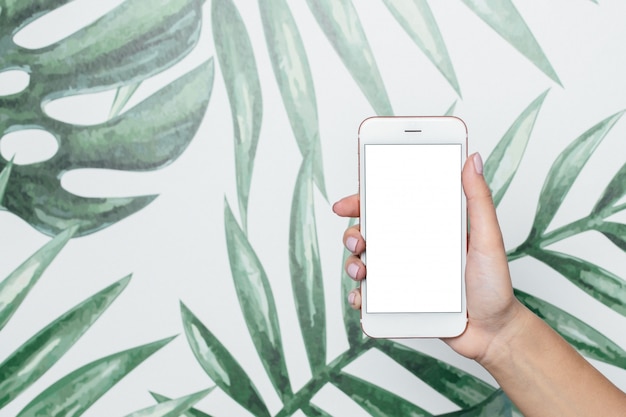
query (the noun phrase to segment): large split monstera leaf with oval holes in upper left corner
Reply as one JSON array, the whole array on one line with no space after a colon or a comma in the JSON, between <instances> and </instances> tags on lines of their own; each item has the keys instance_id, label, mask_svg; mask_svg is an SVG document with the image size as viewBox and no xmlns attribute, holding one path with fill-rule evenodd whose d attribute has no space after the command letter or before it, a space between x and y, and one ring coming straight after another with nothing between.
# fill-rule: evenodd
<instances>
[{"instance_id":1,"label":"large split monstera leaf with oval holes in upper left corner","mask_svg":"<svg viewBox=\"0 0 626 417\"><path fill-rule=\"evenodd\" d=\"M131 215L155 196L80 197L61 186L63 174L82 168L148 171L174 161L204 116L213 67L202 64L126 112L119 108L128 97L116 99L114 117L104 123L57 120L45 111L47 104L107 90L124 96L125 89L132 91L188 55L202 27L198 0L168 0L159 7L127 0L49 46L28 49L15 43L17 31L65 3L0 1L0 70L14 68L29 76L26 89L0 96L0 135L31 128L50 133L58 143L49 159L13 166L4 207L48 235L77 224L81 236ZM0 168L7 163L0 158Z\"/></svg>"}]
</instances>

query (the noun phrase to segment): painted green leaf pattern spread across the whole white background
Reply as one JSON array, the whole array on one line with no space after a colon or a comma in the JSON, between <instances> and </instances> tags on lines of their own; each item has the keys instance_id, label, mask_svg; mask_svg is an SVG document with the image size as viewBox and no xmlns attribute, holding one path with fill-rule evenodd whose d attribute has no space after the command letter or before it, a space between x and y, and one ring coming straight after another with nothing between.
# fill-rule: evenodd
<instances>
[{"instance_id":1,"label":"painted green leaf pattern spread across the whole white background","mask_svg":"<svg viewBox=\"0 0 626 417\"><path fill-rule=\"evenodd\" d=\"M238 9L244 7L243 3L235 4L232 0L125 0L93 23L51 45L25 48L15 42L15 35L29 23L66 3L71 1L0 0L0 71L17 71L29 77L28 85L21 91L0 96L0 135L8 138L16 132L39 130L53 135L58 143L56 153L44 161L22 164L12 161L12 156L5 153L0 158L3 210L51 237L0 282L0 338L4 333L2 329L11 322L14 313L68 242L80 236L97 235L109 226L114 228L128 216L133 215L131 219L142 216L143 209L156 197L79 196L62 186L62 176L87 168L149 172L174 163L192 140L206 139L197 132L211 102L214 83L222 83L228 104L226 101L211 104L222 108L229 106L235 170L233 178L220 181L226 184L231 180L236 184L234 197L223 199L225 240L222 242L225 242L230 279L248 329L248 334L239 337L252 343L258 354L255 360L260 361L278 401L268 402L267 394L257 387L257 375L246 369L244 363L248 362L238 358L212 331L211 323L218 318L196 315L196 309L190 308L183 299L178 320L182 322L186 349L181 349L179 355L195 358L196 366L208 376L205 389L190 391L176 399L165 396L166 392L151 392L154 404L143 408L134 406L141 402L134 403L131 398L127 412L139 411L128 415L207 416L210 414L202 410L211 409L212 401L217 401L213 400L217 392L225 394L227 401L238 404L242 415L342 415L341 409L316 402L316 396L328 386L335 387L336 396L351 399L366 415L442 415L428 411L431 406L427 398L407 399L383 382L365 380L349 371L351 364L372 351L386 355L446 398L452 404L451 410L458 410L445 415L519 415L497 387L462 367L406 343L364 338L358 314L346 308L345 303L343 328L347 348L327 359L327 340L334 327L328 322L329 300L325 286L332 285L333 281L324 277L320 243L325 242L320 241L315 210L320 207L316 195L328 200L326 184L332 181L325 175L322 145L330 142L320 134L320 109L316 98L316 92L319 93L316 81L327 74L313 71L318 67L310 61L305 34L301 33L292 8L300 7L310 14L327 38L325 46L334 49L341 65L361 91L361 99L373 112L391 115L394 103L387 94L383 71L368 42L375 31L372 29L370 33L361 21L355 8L358 4L350 0L307 0L306 5L261 0L255 16L262 26L266 50L253 47L250 22L246 23ZM159 3L158 7L155 3ZM447 89L443 93L452 91L454 98L446 113L455 114L456 104L463 100L463 85L455 73L455 51L448 50L435 11L425 0L383 0L381 3L394 24L414 43L413 53L423 54L427 65L439 73L444 81L441 85ZM564 88L549 57L512 2L464 0L462 3L492 36L502 38L507 48L515 50L531 64L529 71L542 74L545 86ZM589 5L571 7L582 6ZM215 57L202 60L130 106L143 84L175 67L198 49L205 27L211 28ZM260 59L260 54L267 56ZM268 66L267 72L264 65ZM261 76L269 72L274 79ZM264 105L263 91L270 85L278 88L283 108ZM45 106L54 100L103 91L115 92L110 113L103 122L68 123L45 111ZM508 130L486 159L485 175L496 205L516 178L548 96L546 90L532 102L520 103L519 115L508 122ZM441 109L432 111L443 113ZM294 188L290 191L290 218L288 236L285 236L289 251L288 259L283 261L288 262L293 314L297 316L304 342L306 359L303 360L310 368L310 379L303 384L294 384L291 379L286 344L292 335L284 333L279 321L279 311L284 311L279 308L283 301L273 290L274 278L266 272L257 252L258 245L271 245L277 236L267 236L265 242L259 242L258 237L253 240L249 234L257 148L262 126L273 123L276 112L285 114L285 136L295 140L301 155ZM626 225L614 220L614 215L626 208L626 164L602 186L603 191L588 214L549 228L582 168L593 158L600 143L611 135L614 125L620 123L622 114L622 109L615 109L587 130L578 132L578 136L560 151L546 173L530 233L523 243L509 250L508 256L511 261L532 257L557 271L589 297L626 315L626 288L620 276L585 259L547 248L584 232L596 231L617 248L626 250ZM354 129L356 131L356 125ZM339 235L340 231L336 233ZM90 267L94 266L81 266ZM336 270L340 271L341 265L337 264ZM341 275L341 281L336 279L337 292L340 288L345 298L354 283L345 274ZM131 279L130 275L126 276L78 305L65 307L65 313L41 330L28 329L32 336L17 349L0 351L0 413L20 396L27 396L29 401L18 410L20 416L81 415L143 361L148 360L142 367L160 366L158 360L150 356L168 345L172 335L79 364L75 370L43 388L36 385L57 361L72 357L72 346L107 312ZM576 311L565 311L520 289L516 289L516 295L583 355L617 368L626 367L626 351L586 323L584 316ZM152 389L150 381L145 384L146 391ZM35 389L38 391L33 392ZM213 412L211 415L226 414Z\"/></svg>"}]
</instances>

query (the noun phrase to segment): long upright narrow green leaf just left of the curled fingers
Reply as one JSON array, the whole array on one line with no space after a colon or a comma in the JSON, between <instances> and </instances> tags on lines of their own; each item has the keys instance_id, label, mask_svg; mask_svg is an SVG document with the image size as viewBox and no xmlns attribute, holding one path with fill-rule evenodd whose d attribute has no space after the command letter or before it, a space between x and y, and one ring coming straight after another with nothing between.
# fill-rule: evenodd
<instances>
[{"instance_id":1,"label":"long upright narrow green leaf just left of the curled fingers","mask_svg":"<svg viewBox=\"0 0 626 417\"><path fill-rule=\"evenodd\" d=\"M289 270L304 346L315 375L326 366L326 307L313 191L311 164L304 159L291 202Z\"/></svg>"}]
</instances>

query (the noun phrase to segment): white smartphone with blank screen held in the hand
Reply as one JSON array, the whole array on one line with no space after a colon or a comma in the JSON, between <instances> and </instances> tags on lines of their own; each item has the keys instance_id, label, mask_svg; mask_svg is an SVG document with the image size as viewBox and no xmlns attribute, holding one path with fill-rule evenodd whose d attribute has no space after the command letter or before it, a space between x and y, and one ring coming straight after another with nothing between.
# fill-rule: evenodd
<instances>
[{"instance_id":1,"label":"white smartphone with blank screen held in the hand","mask_svg":"<svg viewBox=\"0 0 626 417\"><path fill-rule=\"evenodd\" d=\"M467 325L467 127L451 116L359 127L361 326L370 337L453 337Z\"/></svg>"}]
</instances>

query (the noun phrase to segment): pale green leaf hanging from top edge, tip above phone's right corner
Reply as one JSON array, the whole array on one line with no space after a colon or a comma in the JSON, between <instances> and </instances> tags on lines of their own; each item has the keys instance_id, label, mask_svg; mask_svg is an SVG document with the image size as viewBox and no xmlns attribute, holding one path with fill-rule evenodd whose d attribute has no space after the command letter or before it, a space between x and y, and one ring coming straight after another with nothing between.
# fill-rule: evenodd
<instances>
[{"instance_id":1,"label":"pale green leaf hanging from top edge, tip above phone's right corner","mask_svg":"<svg viewBox=\"0 0 626 417\"><path fill-rule=\"evenodd\" d=\"M426 0L384 0L384 3L400 26L460 97L461 88L456 79L452 61L428 2Z\"/></svg>"}]
</instances>

